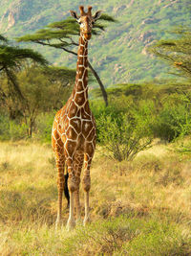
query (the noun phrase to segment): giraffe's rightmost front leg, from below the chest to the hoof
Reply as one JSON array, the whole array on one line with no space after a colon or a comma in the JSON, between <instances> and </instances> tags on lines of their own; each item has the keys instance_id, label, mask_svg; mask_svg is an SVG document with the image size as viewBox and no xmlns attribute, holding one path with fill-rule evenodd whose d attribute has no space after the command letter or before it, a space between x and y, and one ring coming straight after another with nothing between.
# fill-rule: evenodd
<instances>
[{"instance_id":1,"label":"giraffe's rightmost front leg, from below the chest to the hoof","mask_svg":"<svg viewBox=\"0 0 191 256\"><path fill-rule=\"evenodd\" d=\"M85 199L85 217L83 224L86 225L90 222L90 206L89 206L89 192L91 188L91 177L90 177L90 167L92 162L92 155L85 153L85 166L84 166L84 176L83 176L83 189L84 189L84 199Z\"/></svg>"}]
</instances>

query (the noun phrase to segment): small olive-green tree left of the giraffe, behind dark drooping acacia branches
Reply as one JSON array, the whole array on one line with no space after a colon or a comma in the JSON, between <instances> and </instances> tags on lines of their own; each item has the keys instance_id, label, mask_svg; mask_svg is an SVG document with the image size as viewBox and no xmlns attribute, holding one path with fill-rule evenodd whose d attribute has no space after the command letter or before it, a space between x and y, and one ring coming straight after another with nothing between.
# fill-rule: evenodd
<instances>
[{"instance_id":1,"label":"small olive-green tree left of the giraffe, behind dark drooping acacia branches","mask_svg":"<svg viewBox=\"0 0 191 256\"><path fill-rule=\"evenodd\" d=\"M6 96L4 107L11 112L17 113L17 121L24 122L27 128L27 136L32 137L32 130L36 117L39 113L49 112L52 109L60 108L63 101L67 100L71 93L71 86L74 82L74 70L65 68L39 68L30 66L17 73L19 89L24 97L12 97L8 86L9 81L1 80L2 90ZM64 74L66 75L64 80ZM19 114L18 114L19 113Z\"/></svg>"}]
</instances>

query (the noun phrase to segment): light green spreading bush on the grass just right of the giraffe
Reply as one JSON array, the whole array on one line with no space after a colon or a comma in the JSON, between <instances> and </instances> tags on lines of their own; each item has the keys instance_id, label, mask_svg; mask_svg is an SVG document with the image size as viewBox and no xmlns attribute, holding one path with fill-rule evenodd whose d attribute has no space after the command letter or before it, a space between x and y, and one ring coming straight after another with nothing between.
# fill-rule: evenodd
<instances>
[{"instance_id":1,"label":"light green spreading bush on the grass just right of the giraffe","mask_svg":"<svg viewBox=\"0 0 191 256\"><path fill-rule=\"evenodd\" d=\"M132 160L139 151L150 147L151 112L149 108L131 109L129 114L121 113L117 118L102 115L97 121L98 140L110 151L110 156L122 160Z\"/></svg>"}]
</instances>

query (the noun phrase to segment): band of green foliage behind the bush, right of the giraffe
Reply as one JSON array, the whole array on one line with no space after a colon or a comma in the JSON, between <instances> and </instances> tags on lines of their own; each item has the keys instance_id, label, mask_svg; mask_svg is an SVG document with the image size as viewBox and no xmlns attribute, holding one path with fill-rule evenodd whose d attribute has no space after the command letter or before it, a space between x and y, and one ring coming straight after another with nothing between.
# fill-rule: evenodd
<instances>
[{"instance_id":1,"label":"band of green foliage behind the bush, right of the giraffe","mask_svg":"<svg viewBox=\"0 0 191 256\"><path fill-rule=\"evenodd\" d=\"M128 113L129 109L141 111L147 105L150 110L150 129L154 137L172 141L190 133L190 84L119 84L107 89L110 106L93 105L93 112L113 118ZM94 92L95 93L95 92ZM99 96L99 94L95 94ZM128 104L127 104L128 103ZM145 104L147 103L147 104ZM96 109L95 109L96 108ZM97 111L99 109L99 111ZM99 134L99 130L97 130ZM99 135L98 135L99 138Z\"/></svg>"}]
</instances>

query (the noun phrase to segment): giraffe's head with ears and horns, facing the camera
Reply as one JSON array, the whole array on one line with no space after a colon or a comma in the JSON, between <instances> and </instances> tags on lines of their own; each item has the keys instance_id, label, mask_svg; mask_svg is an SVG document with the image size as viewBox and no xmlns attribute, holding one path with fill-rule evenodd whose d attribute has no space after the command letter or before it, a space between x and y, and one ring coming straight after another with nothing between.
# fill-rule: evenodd
<instances>
[{"instance_id":1,"label":"giraffe's head with ears and horns, facing the camera","mask_svg":"<svg viewBox=\"0 0 191 256\"><path fill-rule=\"evenodd\" d=\"M92 36L92 29L96 20L100 17L101 12L96 12L95 15L92 15L92 7L88 7L88 12L84 12L84 7L79 7L80 15L77 15L76 12L70 11L71 15L76 19L80 25L80 34L86 39L90 40Z\"/></svg>"}]
</instances>

